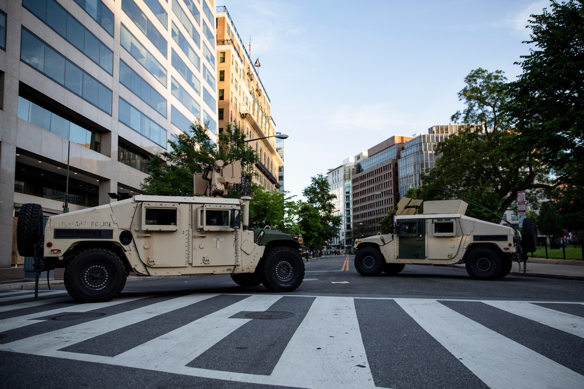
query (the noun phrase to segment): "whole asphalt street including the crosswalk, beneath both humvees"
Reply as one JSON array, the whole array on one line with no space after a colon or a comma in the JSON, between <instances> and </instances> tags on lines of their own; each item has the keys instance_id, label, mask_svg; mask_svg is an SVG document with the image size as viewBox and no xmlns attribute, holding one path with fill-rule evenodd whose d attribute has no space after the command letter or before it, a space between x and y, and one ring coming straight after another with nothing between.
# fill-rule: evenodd
<instances>
[{"instance_id":1,"label":"whole asphalt street including the crosswalk, beneath both humvees","mask_svg":"<svg viewBox=\"0 0 584 389\"><path fill-rule=\"evenodd\" d=\"M353 256L305 262L293 293L229 276L127 283L78 304L64 288L0 293L6 388L582 388L584 282ZM517 265L513 268L516 271ZM255 314L254 314L255 313Z\"/></svg>"}]
</instances>

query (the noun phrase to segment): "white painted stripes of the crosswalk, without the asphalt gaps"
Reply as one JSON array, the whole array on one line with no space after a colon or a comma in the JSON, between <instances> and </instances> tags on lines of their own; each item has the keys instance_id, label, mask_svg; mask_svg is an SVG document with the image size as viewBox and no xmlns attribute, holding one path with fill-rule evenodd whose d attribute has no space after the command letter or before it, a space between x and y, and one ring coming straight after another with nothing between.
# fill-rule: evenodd
<instances>
[{"instance_id":1,"label":"white painted stripes of the crosswalk, without the asphalt gaps","mask_svg":"<svg viewBox=\"0 0 584 389\"><path fill-rule=\"evenodd\" d=\"M54 296L55 298L47 299L47 301L58 302L66 298L61 297L58 293L55 293ZM163 301L157 300L157 302L147 305L142 302L139 307L132 308L132 304L137 304L138 300L151 296L129 295L107 303L67 305L57 309L4 318L0 320L0 332L19 331L20 328L42 323L46 321L47 317L60 313L99 311L128 303L126 311L106 315L85 323L74 324L75 322L72 322L65 328L40 334L37 332L36 335L12 342L8 341L8 337L4 339L4 344L0 344L0 350L250 384L312 389L376 387L374 372L370 368L367 349L362 338L364 335L361 335L359 321L357 321L357 310L353 297L292 296L314 298L314 302L305 306L305 317L298 319L296 324L299 324L298 328L293 332L286 346L282 348L283 351L281 351L279 358L274 361L272 372L267 375L230 372L228 367L225 371L188 365L244 324L254 320L232 318L232 316L246 311L270 310L273 304L280 304L283 297L281 295L239 295L241 300L238 302L220 306L213 313L193 318L189 323L187 323L189 320L186 320L183 323L187 324L178 328L173 327L165 334L145 340L137 346L131 345L132 348L123 352L120 350L121 353L115 356L63 350L67 346L121 330L129 325L151 320L162 314L180 311L192 304L198 304L221 295L195 293ZM7 299L11 297L19 296L6 296ZM294 304L293 300L281 301L284 304ZM561 361L551 360L450 309L439 300L386 300L394 300L419 327L490 388L584 387L584 376L561 365L559 363ZM18 301L18 299L14 299L14 301ZM212 302L213 300L208 301ZM34 308L38 310L43 308L41 304L38 304L41 302L33 303L35 302L15 303L12 306L18 306L18 309ZM488 304L501 310L502 314L512 313L550 327L550 331L560 330L584 338L584 318L579 316L528 302L479 302L475 300L470 303ZM207 304L207 306L214 307L213 304ZM397 306L395 307L398 309ZM85 345L82 346L85 347ZM370 358L372 357L370 356ZM464 367L461 368L464 369Z\"/></svg>"}]
</instances>

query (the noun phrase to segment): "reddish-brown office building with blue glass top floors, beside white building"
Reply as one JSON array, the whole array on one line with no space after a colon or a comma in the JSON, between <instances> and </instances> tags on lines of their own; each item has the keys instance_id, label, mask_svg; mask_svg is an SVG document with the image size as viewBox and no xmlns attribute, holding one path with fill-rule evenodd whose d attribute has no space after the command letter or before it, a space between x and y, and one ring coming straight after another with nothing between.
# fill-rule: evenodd
<instances>
[{"instance_id":1,"label":"reddish-brown office building with blue glass top floors, beside white building","mask_svg":"<svg viewBox=\"0 0 584 389\"><path fill-rule=\"evenodd\" d=\"M380 232L379 222L399 201L398 159L411 136L392 136L369 150L352 177L353 237Z\"/></svg>"}]
</instances>

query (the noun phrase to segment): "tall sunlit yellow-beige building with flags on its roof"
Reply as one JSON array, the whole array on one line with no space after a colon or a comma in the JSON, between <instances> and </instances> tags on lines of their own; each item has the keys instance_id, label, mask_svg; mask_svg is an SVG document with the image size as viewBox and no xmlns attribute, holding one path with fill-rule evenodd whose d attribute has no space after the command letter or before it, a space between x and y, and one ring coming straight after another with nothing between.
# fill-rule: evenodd
<instances>
[{"instance_id":1,"label":"tall sunlit yellow-beige building with flags on its roof","mask_svg":"<svg viewBox=\"0 0 584 389\"><path fill-rule=\"evenodd\" d=\"M235 24L224 6L217 7L217 78L219 132L225 124L241 128L258 153L255 163L257 176L253 179L266 191L278 191L279 170L283 160L276 150L276 123L272 118L271 102L253 62L239 37Z\"/></svg>"}]
</instances>

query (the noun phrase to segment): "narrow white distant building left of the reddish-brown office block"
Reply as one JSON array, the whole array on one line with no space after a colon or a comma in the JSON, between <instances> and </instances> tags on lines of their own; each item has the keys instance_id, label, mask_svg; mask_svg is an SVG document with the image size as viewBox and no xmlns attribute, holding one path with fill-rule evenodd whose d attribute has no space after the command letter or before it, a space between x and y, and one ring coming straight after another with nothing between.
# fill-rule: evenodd
<instances>
[{"instance_id":1,"label":"narrow white distant building left of the reddish-brown office block","mask_svg":"<svg viewBox=\"0 0 584 389\"><path fill-rule=\"evenodd\" d=\"M353 188L351 180L357 171L359 162L367 158L367 152L343 160L343 164L326 172L331 188L330 193L335 195L332 203L335 207L334 215L341 219L339 236L328 242L328 250L339 250L341 253L350 253L353 246Z\"/></svg>"}]
</instances>

